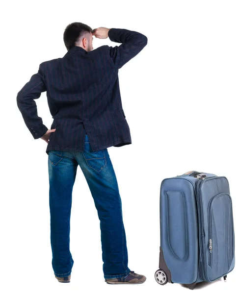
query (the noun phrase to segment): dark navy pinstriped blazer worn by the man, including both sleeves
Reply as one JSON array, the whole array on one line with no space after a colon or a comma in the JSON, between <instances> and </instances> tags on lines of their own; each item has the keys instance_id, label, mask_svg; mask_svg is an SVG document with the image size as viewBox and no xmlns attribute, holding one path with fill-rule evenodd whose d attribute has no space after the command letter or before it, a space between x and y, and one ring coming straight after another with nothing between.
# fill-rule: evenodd
<instances>
[{"instance_id":1,"label":"dark navy pinstriped blazer worn by the man, including both sleeves","mask_svg":"<svg viewBox=\"0 0 240 294\"><path fill-rule=\"evenodd\" d=\"M101 46L87 52L79 46L62 58L42 62L17 94L17 105L34 139L48 130L37 114L36 102L47 91L53 117L46 149L83 151L85 134L93 151L132 144L120 96L118 70L146 45L141 33L111 28L111 41L119 46Z\"/></svg>"}]
</instances>

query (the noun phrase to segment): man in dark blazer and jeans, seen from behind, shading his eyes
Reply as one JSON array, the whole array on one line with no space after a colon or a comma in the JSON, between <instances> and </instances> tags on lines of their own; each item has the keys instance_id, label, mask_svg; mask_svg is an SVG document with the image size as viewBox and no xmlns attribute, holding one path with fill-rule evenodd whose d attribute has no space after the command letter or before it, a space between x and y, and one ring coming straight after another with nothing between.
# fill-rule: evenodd
<instances>
[{"instance_id":1,"label":"man in dark blazer and jeans, seen from behind, shading his eyes","mask_svg":"<svg viewBox=\"0 0 240 294\"><path fill-rule=\"evenodd\" d=\"M92 47L93 36L122 43ZM132 144L122 108L118 70L146 45L135 31L69 24L63 35L67 53L42 62L17 95L17 105L34 139L47 142L52 266L59 282L70 282L69 250L72 190L78 165L93 196L101 228L105 281L139 284L146 280L128 268L122 203L107 147ZM47 91L53 116L49 130L34 99Z\"/></svg>"}]
</instances>

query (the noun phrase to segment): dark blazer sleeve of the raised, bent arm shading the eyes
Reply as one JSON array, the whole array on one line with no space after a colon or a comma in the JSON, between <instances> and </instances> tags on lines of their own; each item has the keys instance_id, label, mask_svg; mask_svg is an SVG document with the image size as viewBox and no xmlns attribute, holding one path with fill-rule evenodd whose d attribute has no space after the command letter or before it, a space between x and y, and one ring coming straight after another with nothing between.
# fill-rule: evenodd
<instances>
[{"instance_id":1,"label":"dark blazer sleeve of the raised, bent arm shading the eyes","mask_svg":"<svg viewBox=\"0 0 240 294\"><path fill-rule=\"evenodd\" d=\"M147 45L148 41L145 35L123 28L111 28L108 31L108 37L113 42L122 43L120 46L107 46L113 64L117 69L120 69L136 56Z\"/></svg>"}]
</instances>

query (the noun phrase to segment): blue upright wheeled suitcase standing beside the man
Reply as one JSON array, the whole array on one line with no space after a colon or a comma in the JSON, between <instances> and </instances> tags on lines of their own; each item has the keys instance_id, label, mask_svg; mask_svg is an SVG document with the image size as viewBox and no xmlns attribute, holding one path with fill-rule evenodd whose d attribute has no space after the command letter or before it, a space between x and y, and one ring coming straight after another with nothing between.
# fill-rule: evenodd
<instances>
[{"instance_id":1,"label":"blue upright wheeled suitcase standing beside the man","mask_svg":"<svg viewBox=\"0 0 240 294\"><path fill-rule=\"evenodd\" d=\"M193 290L235 266L232 199L225 176L186 172L160 186L160 256L155 279Z\"/></svg>"}]
</instances>

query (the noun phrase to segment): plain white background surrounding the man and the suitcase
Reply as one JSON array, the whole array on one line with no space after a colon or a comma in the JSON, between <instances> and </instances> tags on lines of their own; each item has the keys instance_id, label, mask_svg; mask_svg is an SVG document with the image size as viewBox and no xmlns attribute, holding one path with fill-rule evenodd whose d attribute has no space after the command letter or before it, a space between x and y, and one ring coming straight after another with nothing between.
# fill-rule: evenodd
<instances>
[{"instance_id":1,"label":"plain white background surrounding the man and the suitcase","mask_svg":"<svg viewBox=\"0 0 240 294\"><path fill-rule=\"evenodd\" d=\"M0 293L173 293L160 286L160 183L187 171L224 175L233 199L236 267L227 283L197 286L205 293L239 289L240 1L11 1L1 18ZM71 213L71 283L53 274L47 143L34 140L16 103L41 62L63 57L65 27L127 28L147 46L119 70L132 145L109 147L127 235L129 267L140 285L108 285L102 271L100 223L78 167ZM94 37L93 48L119 45ZM38 115L53 122L46 92Z\"/></svg>"}]
</instances>

